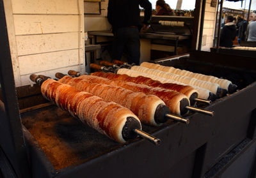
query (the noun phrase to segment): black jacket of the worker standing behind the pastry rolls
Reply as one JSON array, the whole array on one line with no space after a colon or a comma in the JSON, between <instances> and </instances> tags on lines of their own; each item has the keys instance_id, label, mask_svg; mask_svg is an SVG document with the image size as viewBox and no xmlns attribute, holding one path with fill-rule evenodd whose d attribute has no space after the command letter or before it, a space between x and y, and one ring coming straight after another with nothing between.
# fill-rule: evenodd
<instances>
[{"instance_id":1,"label":"black jacket of the worker standing behind the pastry rolls","mask_svg":"<svg viewBox=\"0 0 256 178\"><path fill-rule=\"evenodd\" d=\"M108 21L113 31L130 26L141 29L140 6L145 9L143 24L150 24L152 5L148 0L109 0Z\"/></svg>"}]
</instances>

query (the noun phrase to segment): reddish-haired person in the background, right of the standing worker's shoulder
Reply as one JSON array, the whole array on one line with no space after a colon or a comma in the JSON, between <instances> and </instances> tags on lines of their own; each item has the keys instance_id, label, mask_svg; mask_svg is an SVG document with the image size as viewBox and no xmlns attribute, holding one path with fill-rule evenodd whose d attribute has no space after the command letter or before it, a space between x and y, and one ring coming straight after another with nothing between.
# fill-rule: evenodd
<instances>
[{"instance_id":1,"label":"reddish-haired person in the background, right of the standing worker's shoulder","mask_svg":"<svg viewBox=\"0 0 256 178\"><path fill-rule=\"evenodd\" d=\"M164 0L158 0L156 1L156 11L154 15L175 15L175 13Z\"/></svg>"}]
</instances>

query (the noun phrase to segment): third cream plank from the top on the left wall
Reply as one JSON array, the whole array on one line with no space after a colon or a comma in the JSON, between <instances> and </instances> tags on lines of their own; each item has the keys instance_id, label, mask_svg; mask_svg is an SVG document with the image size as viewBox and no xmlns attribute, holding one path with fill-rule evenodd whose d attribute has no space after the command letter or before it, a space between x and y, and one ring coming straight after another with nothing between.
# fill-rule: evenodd
<instances>
[{"instance_id":1,"label":"third cream plank from the top on the left wall","mask_svg":"<svg viewBox=\"0 0 256 178\"><path fill-rule=\"evenodd\" d=\"M18 56L83 48L81 33L16 36ZM80 43L80 45L78 45Z\"/></svg>"}]
</instances>

